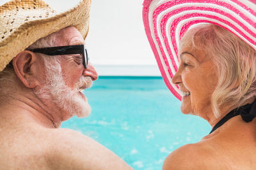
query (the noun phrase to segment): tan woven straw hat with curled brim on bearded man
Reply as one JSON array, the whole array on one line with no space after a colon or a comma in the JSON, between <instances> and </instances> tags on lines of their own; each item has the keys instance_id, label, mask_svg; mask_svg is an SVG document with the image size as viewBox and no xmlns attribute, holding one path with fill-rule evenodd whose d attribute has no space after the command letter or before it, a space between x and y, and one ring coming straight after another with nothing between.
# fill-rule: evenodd
<instances>
[{"instance_id":1,"label":"tan woven straw hat with curled brim on bearded man","mask_svg":"<svg viewBox=\"0 0 256 170\"><path fill-rule=\"evenodd\" d=\"M13 0L0 6L0 71L19 52L52 32L74 25L85 38L91 0L58 13L42 0Z\"/></svg>"}]
</instances>

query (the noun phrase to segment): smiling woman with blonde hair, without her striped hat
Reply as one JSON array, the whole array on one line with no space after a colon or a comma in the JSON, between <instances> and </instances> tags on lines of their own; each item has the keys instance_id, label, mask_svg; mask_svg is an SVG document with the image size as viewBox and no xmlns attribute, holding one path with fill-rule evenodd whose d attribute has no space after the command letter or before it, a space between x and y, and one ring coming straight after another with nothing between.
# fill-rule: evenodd
<instances>
[{"instance_id":1,"label":"smiling woman with blonde hair, without her striped hat","mask_svg":"<svg viewBox=\"0 0 256 170\"><path fill-rule=\"evenodd\" d=\"M199 143L172 152L164 169L256 169L256 51L229 31L204 25L186 32L179 57L172 81L183 94L180 110L213 128Z\"/></svg>"}]
</instances>

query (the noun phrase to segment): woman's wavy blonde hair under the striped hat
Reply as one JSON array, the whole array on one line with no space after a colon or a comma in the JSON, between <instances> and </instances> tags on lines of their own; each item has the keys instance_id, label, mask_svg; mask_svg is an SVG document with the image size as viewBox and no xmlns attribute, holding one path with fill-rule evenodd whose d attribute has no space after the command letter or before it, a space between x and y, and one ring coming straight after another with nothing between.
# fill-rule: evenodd
<instances>
[{"instance_id":1,"label":"woman's wavy blonde hair under the striped hat","mask_svg":"<svg viewBox=\"0 0 256 170\"><path fill-rule=\"evenodd\" d=\"M235 34L218 25L204 24L184 34L179 48L204 50L216 65L218 82L211 96L212 111L242 106L256 96L256 51ZM228 107L227 107L228 106Z\"/></svg>"}]
</instances>

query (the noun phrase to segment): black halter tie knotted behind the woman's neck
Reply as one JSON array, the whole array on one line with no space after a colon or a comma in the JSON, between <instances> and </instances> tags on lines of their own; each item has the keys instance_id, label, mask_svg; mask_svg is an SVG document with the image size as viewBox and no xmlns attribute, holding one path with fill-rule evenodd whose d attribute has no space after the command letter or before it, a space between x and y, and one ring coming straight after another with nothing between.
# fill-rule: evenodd
<instances>
[{"instance_id":1,"label":"black halter tie knotted behind the woman's neck","mask_svg":"<svg viewBox=\"0 0 256 170\"><path fill-rule=\"evenodd\" d=\"M236 117L237 115L241 115L244 122L251 122L253 118L256 117L256 100L252 104L246 104L240 108L236 108L230 111L225 117L221 118L220 122L214 125L212 131L209 134L214 132L221 125L225 124L225 122L227 122L230 118Z\"/></svg>"}]
</instances>

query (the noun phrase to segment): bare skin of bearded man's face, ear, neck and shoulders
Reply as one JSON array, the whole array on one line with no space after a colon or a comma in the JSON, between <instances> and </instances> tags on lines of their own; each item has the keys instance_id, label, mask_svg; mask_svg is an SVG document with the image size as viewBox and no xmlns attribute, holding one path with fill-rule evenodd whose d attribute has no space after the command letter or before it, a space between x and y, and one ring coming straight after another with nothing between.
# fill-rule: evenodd
<instances>
[{"instance_id":1,"label":"bare skin of bearded man's face, ear, neck and shoulders","mask_svg":"<svg viewBox=\"0 0 256 170\"><path fill-rule=\"evenodd\" d=\"M84 43L75 27L61 30L57 41L59 46ZM92 64L85 69L76 55L61 56L60 66L63 81L71 89L81 76L98 78ZM13 67L15 92L8 98L10 94L0 95L1 169L131 169L97 141L59 128L70 115L56 107L53 97L44 99L35 93L47 84L40 55L24 50L13 59Z\"/></svg>"}]
</instances>

